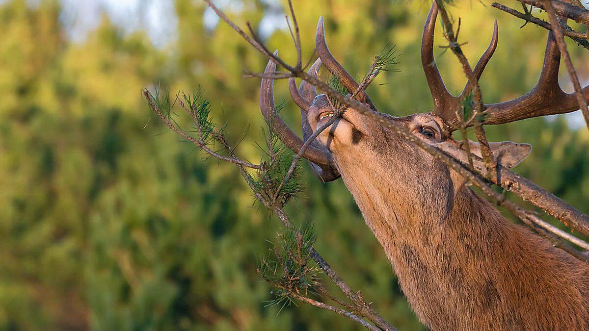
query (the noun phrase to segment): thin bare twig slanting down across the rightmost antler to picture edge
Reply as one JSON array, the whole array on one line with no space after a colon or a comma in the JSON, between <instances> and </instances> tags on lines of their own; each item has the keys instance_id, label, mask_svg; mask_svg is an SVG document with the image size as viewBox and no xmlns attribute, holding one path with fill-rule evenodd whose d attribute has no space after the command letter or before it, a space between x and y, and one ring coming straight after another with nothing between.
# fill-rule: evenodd
<instances>
[{"instance_id":1,"label":"thin bare twig slanting down across the rightmost antler to picture edge","mask_svg":"<svg viewBox=\"0 0 589 331\"><path fill-rule=\"evenodd\" d=\"M587 128L589 128L589 108L587 108L587 102L585 102L585 97L583 97L581 83L577 77L577 72L575 72L573 61L571 61L571 57L568 55L567 45L564 43L564 35L562 34L560 20L558 19L556 11L552 6L551 0L542 0L542 2L544 2L544 9L548 12L548 18L550 18L550 24L552 25L552 32L554 32L554 37L556 39L558 48L560 49L560 54L564 59L564 64L567 66L568 75L571 77L571 81L573 82L573 86L575 88L575 97L577 97L580 110L583 112L585 124L587 124Z\"/></svg>"}]
</instances>

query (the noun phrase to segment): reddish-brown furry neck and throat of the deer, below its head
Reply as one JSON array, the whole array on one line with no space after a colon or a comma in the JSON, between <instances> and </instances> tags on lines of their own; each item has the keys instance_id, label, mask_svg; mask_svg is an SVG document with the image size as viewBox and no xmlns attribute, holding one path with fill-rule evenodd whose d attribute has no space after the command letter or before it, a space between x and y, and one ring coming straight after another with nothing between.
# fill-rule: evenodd
<instances>
[{"instance_id":1,"label":"reddish-brown furry neck and throat of the deer, below its head","mask_svg":"<svg viewBox=\"0 0 589 331\"><path fill-rule=\"evenodd\" d=\"M442 207L431 213L432 206L395 192L382 177L342 175L403 293L431 329L588 327L587 267L510 223L469 188L458 190L451 206L435 201ZM547 306L553 315L542 310Z\"/></svg>"}]
</instances>

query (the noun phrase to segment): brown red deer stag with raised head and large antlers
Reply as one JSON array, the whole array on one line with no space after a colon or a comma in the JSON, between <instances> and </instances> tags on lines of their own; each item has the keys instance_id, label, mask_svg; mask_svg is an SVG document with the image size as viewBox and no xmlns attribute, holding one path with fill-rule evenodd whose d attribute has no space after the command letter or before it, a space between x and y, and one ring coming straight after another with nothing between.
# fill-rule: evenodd
<instances>
[{"instance_id":1,"label":"brown red deer stag with raised head and large antlers","mask_svg":"<svg viewBox=\"0 0 589 331\"><path fill-rule=\"evenodd\" d=\"M458 160L466 151L452 138L456 130L458 97L444 85L434 60L436 2L423 29L421 60L434 107L406 117L379 113L368 94L357 100L388 121L403 125L413 135ZM497 21L487 51L474 69L477 80L497 47ZM323 19L316 32L319 58L308 73L317 77L320 66L336 75L348 91L359 84L333 57ZM525 95L485 104L485 124L505 124L526 118L578 110L574 94L558 83L560 52L548 33L544 64L537 85ZM273 72L270 59L262 78L260 110L274 113ZM432 330L588 330L589 266L531 230L502 216L479 197L465 178L379 121L346 108L338 114L325 94L306 81L289 90L300 107L303 139L337 116L320 133L303 157L322 181L343 179L363 219L386 253L402 292L419 320ZM589 98L589 87L583 88ZM295 152L303 140L277 116L274 129ZM468 141L481 163L481 146ZM531 145L489 144L498 165L510 168L531 153Z\"/></svg>"}]
</instances>

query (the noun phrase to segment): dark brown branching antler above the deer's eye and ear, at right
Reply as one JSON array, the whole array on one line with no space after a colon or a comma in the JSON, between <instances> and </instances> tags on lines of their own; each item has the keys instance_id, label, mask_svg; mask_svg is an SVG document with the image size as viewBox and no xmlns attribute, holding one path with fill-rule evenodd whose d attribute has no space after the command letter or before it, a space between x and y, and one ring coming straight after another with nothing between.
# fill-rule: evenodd
<instances>
[{"instance_id":1,"label":"dark brown branching antler above the deer's eye and ear, at right","mask_svg":"<svg viewBox=\"0 0 589 331\"><path fill-rule=\"evenodd\" d=\"M466 85L459 97L451 95L444 86L444 81L435 64L433 52L434 27L437 15L438 7L434 1L426 19L425 27L423 28L421 60L429 90L431 91L432 98L434 98L434 110L432 112L442 117L452 130L454 130L458 123L455 115L456 107L460 107L459 101L465 93L469 92L469 86L468 84ZM489 44L487 51L482 55L474 69L477 80L481 77L485 65L487 65L496 47L497 20L495 20L491 44ZM525 118L564 114L578 110L578 103L574 93L565 93L558 84L559 64L560 51L558 50L552 31L550 31L544 53L544 65L542 66L540 79L536 86L528 94L513 100L499 102L497 104L485 104L484 109L487 116L485 117L484 124L505 124ZM589 86L584 87L582 91L584 97L589 99Z\"/></svg>"}]
</instances>

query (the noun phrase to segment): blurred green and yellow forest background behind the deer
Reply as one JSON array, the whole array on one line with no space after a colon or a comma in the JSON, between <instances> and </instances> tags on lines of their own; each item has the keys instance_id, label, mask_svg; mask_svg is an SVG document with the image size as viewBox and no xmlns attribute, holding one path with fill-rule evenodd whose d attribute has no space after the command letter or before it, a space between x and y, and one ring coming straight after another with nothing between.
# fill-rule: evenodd
<instances>
[{"instance_id":1,"label":"blurred green and yellow forest background behind the deer","mask_svg":"<svg viewBox=\"0 0 589 331\"><path fill-rule=\"evenodd\" d=\"M83 0L100 13L94 25L78 18L87 24L80 31L68 15L74 2L0 2L0 330L358 329L303 304L280 313L265 307L272 289L256 266L279 222L253 204L236 168L191 153L193 146L167 132L141 98L145 87L175 94L200 85L233 143L245 135L239 154L259 160L260 81L243 71L261 72L267 60L198 0L135 1L135 12ZM216 3L295 59L285 2ZM333 54L356 77L390 41L400 72L379 77L369 88L372 99L393 115L427 111L432 101L419 47L430 4L296 0L305 58L319 15ZM462 18L460 40L473 64L498 18L499 47L481 80L485 101L497 102L535 84L547 32L531 24L520 29L522 21L490 4L457 1L452 13ZM154 27L163 29L154 34ZM437 29L436 44L444 45ZM569 49L586 82L589 54ZM462 90L465 78L451 52L436 48L436 58L451 91ZM561 78L571 91L563 68ZM276 90L277 100L288 98L286 81ZM300 123L293 102L283 116L292 127ZM487 131L492 141L533 144L515 171L589 212L582 117ZM342 181L324 185L308 171L302 180L305 190L287 210L298 224L315 222L317 250L393 325L423 329Z\"/></svg>"}]
</instances>

